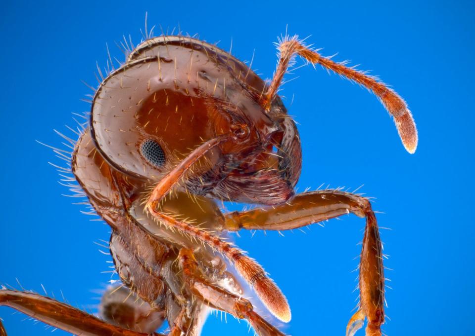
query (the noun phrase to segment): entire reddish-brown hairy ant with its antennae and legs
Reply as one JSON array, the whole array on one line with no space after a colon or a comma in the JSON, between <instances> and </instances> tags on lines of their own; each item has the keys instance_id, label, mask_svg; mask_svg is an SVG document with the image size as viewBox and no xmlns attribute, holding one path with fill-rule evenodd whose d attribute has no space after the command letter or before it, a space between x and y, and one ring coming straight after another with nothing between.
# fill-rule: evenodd
<instances>
[{"instance_id":1,"label":"entire reddish-brown hairy ant with its antennae and legs","mask_svg":"<svg viewBox=\"0 0 475 336\"><path fill-rule=\"evenodd\" d=\"M72 156L75 178L112 228L110 252L123 285L104 295L105 320L31 293L1 290L0 304L81 335L143 335L164 319L169 335L199 335L208 306L247 319L261 336L283 335L241 298L230 264L288 322L285 296L256 261L226 241L226 231L292 229L352 212L366 217L367 226L360 309L347 335L365 318L367 335L381 335L384 276L371 205L337 190L294 194L300 140L276 92L297 53L373 90L414 152L411 113L374 78L296 38L282 41L280 50L270 85L230 54L189 37L152 38L131 51L97 89ZM222 214L215 200L272 207Z\"/></svg>"}]
</instances>

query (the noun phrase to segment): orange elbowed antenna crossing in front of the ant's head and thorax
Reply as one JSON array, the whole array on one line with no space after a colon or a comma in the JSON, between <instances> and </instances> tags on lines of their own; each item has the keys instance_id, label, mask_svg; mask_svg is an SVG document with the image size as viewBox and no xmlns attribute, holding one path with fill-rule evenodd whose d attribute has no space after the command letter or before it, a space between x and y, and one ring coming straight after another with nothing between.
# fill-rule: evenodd
<instances>
[{"instance_id":1,"label":"orange elbowed antenna crossing in front of the ant's head and thorax","mask_svg":"<svg viewBox=\"0 0 475 336\"><path fill-rule=\"evenodd\" d=\"M194 149L188 157L168 173L152 190L145 212L150 213L159 224L170 230L179 230L196 240L203 242L213 250L232 261L242 277L254 288L259 298L277 318L284 322L290 321L290 307L287 299L277 285L267 276L264 268L256 261L247 257L232 244L223 241L218 235L210 233L186 221L178 221L173 215L167 215L160 209L160 200L186 175L193 163L209 149L227 140L227 136L211 139Z\"/></svg>"}]
</instances>

